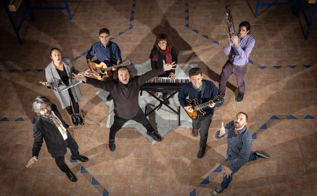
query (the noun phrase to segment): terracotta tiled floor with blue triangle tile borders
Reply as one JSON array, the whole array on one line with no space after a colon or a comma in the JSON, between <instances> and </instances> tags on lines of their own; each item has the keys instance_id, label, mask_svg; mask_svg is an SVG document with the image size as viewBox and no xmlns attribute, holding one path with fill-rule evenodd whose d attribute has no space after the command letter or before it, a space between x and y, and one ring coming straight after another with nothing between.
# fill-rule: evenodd
<instances>
[{"instance_id":1,"label":"terracotta tiled floor with blue triangle tile borders","mask_svg":"<svg viewBox=\"0 0 317 196\"><path fill-rule=\"evenodd\" d=\"M166 33L179 52L179 62L198 64L204 77L218 85L227 59L223 46L228 3L236 27L242 20L251 23L256 45L245 77L245 99L235 102L232 76L226 102L214 114L204 158L196 158L199 139L191 136L190 127L170 131L155 145L137 130L124 128L117 135L117 150L110 152L105 128L109 107L95 94L98 89L80 85L81 106L100 126L87 120L91 125L86 127L86 137L83 127L72 133L80 152L90 158L83 164L68 162L78 182L72 183L57 169L45 146L34 168L25 169L33 145L31 103L37 95L57 103L54 94L38 82L45 79L41 69L50 62L50 48L59 47L64 57L76 58L77 69L84 70L87 65L81 56L98 41L99 29L108 27L122 58L142 64L148 60L155 36ZM0 11L0 195L210 195L221 181L219 165L226 164L227 141L215 139L214 132L241 110L249 115L252 150L265 150L271 159L246 163L223 195L317 194L316 24L305 41L304 20L293 16L290 6L261 8L254 18L256 1L69 4L72 21L66 11L35 12L36 20L27 20L21 29L23 45L18 44L4 9ZM60 111L70 122L66 111Z\"/></svg>"}]
</instances>

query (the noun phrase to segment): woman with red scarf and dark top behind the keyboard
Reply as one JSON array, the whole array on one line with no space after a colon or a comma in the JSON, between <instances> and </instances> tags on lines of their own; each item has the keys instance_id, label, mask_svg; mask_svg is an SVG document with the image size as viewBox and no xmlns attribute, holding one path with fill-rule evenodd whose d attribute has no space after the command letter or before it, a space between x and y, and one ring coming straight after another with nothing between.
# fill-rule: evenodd
<instances>
[{"instance_id":1,"label":"woman with red scarf and dark top behind the keyboard","mask_svg":"<svg viewBox=\"0 0 317 196\"><path fill-rule=\"evenodd\" d=\"M172 64L175 62L177 64L177 53L176 49L172 44L168 41L167 36L165 34L158 34L155 40L155 44L150 53L151 59L151 68L162 68L163 69L163 60L167 64ZM159 75L158 77L170 77L171 79L175 79L175 69L166 71L165 73ZM153 78L158 79L157 77ZM166 99L167 93L163 93L163 99Z\"/></svg>"}]
</instances>

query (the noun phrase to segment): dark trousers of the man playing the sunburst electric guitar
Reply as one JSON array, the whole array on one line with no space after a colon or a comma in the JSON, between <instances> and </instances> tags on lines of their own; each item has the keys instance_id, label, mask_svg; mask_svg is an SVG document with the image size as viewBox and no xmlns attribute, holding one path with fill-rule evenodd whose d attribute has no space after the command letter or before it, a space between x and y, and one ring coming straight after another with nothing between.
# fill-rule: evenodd
<instances>
[{"instance_id":1,"label":"dark trousers of the man playing the sunburst electric guitar","mask_svg":"<svg viewBox=\"0 0 317 196\"><path fill-rule=\"evenodd\" d=\"M208 130L209 126L212 121L213 114L205 115L198 119L198 121L193 121L192 125L195 130L199 130L200 140L199 140L199 147L206 148L207 146L207 139L208 139Z\"/></svg>"}]
</instances>

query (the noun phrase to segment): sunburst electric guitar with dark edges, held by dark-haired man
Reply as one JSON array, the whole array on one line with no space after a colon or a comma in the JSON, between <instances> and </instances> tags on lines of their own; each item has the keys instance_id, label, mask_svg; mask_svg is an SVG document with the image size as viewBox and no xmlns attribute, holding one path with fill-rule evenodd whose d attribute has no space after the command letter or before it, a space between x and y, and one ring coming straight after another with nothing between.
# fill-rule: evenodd
<instances>
[{"instance_id":1,"label":"sunburst electric guitar with dark edges, held by dark-haired man","mask_svg":"<svg viewBox=\"0 0 317 196\"><path fill-rule=\"evenodd\" d=\"M203 110L204 107L207 107L211 103L220 103L223 102L224 98L221 97L220 95L215 96L211 101L208 101L203 104L198 104L197 98L194 98L193 100L186 99L185 106L191 106L193 108L193 112L186 111L187 115L191 117L194 121L198 121L199 117L202 117L206 114L206 112Z\"/></svg>"}]
</instances>

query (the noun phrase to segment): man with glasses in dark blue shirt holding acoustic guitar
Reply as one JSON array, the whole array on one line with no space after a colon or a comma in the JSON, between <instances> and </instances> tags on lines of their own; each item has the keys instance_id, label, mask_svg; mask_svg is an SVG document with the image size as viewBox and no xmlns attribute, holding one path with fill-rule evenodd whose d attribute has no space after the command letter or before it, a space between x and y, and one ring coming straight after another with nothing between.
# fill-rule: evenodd
<instances>
[{"instance_id":1,"label":"man with glasses in dark blue shirt holding acoustic guitar","mask_svg":"<svg viewBox=\"0 0 317 196\"><path fill-rule=\"evenodd\" d=\"M110 40L110 32L108 29L103 28L99 30L99 42L92 44L91 48L89 49L86 59L87 64L89 66L90 72L93 76L98 77L99 73L93 69L91 64L91 59L93 58L94 54L97 55L97 60L100 62L108 61L110 66L118 65L121 63L121 50L118 44L109 41ZM112 69L115 71L115 68ZM112 76L105 79L105 81L113 80ZM112 97L109 94L107 97L107 101L111 101Z\"/></svg>"}]
</instances>

